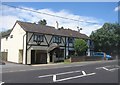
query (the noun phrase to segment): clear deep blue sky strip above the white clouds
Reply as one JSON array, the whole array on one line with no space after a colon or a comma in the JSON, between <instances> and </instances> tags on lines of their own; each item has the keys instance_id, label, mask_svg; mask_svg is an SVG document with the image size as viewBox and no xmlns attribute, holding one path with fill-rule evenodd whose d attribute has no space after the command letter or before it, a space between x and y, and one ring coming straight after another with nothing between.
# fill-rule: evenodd
<instances>
[{"instance_id":1,"label":"clear deep blue sky strip above the white clouds","mask_svg":"<svg viewBox=\"0 0 120 85\"><path fill-rule=\"evenodd\" d=\"M14 2L6 3L13 6L25 6L35 9L48 8L53 11L67 10L68 12L103 19L106 22L117 22L117 2Z\"/></svg>"}]
</instances>

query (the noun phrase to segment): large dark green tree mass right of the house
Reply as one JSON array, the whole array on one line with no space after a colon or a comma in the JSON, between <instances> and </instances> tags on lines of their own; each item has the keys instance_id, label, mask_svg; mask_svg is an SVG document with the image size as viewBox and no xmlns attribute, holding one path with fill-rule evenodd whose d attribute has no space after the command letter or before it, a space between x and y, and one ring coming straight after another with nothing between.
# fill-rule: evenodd
<instances>
[{"instance_id":1,"label":"large dark green tree mass right of the house","mask_svg":"<svg viewBox=\"0 0 120 85\"><path fill-rule=\"evenodd\" d=\"M108 54L118 54L120 49L120 24L105 23L100 29L91 33L95 51L104 51Z\"/></svg>"}]
</instances>

